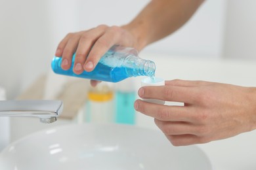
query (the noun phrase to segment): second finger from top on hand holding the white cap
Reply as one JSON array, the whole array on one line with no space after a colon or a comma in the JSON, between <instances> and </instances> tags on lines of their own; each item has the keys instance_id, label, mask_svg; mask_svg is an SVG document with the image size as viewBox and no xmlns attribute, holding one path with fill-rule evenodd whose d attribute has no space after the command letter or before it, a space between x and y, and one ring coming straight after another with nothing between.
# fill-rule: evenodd
<instances>
[{"instance_id":1,"label":"second finger from top on hand holding the white cap","mask_svg":"<svg viewBox=\"0 0 256 170\"><path fill-rule=\"evenodd\" d=\"M148 103L146 101L135 101L135 110L146 114L147 116L163 121L194 121L193 114L190 113L188 107L167 106Z\"/></svg>"}]
</instances>

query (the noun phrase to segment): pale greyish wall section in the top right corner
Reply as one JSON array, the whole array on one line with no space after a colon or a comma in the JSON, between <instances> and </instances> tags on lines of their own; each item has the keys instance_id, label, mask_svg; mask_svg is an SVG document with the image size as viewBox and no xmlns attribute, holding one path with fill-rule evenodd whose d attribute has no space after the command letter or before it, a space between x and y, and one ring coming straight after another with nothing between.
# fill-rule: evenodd
<instances>
[{"instance_id":1,"label":"pale greyish wall section in the top right corner","mask_svg":"<svg viewBox=\"0 0 256 170\"><path fill-rule=\"evenodd\" d=\"M255 8L255 0L228 0L224 57L256 60Z\"/></svg>"}]
</instances>

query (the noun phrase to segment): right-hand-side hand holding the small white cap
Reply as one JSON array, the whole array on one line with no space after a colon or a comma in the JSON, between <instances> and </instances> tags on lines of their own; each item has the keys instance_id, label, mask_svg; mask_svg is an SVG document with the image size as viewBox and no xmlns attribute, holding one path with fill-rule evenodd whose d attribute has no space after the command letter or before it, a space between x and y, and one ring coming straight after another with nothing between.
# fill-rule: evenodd
<instances>
[{"instance_id":1,"label":"right-hand-side hand holding the small white cap","mask_svg":"<svg viewBox=\"0 0 256 170\"><path fill-rule=\"evenodd\" d=\"M144 86L143 98L177 101L167 106L135 101L135 109L155 118L175 146L207 143L256 129L256 88L204 81L170 80Z\"/></svg>"}]
</instances>

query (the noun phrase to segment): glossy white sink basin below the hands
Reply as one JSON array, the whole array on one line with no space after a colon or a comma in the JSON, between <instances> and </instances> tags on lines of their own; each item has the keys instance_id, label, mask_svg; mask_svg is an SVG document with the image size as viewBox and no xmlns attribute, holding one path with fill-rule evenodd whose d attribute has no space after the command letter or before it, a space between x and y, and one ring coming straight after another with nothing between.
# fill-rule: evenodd
<instances>
[{"instance_id":1,"label":"glossy white sink basin below the hands","mask_svg":"<svg viewBox=\"0 0 256 170\"><path fill-rule=\"evenodd\" d=\"M5 170L211 170L198 146L173 146L160 131L122 124L71 124L28 135L0 154Z\"/></svg>"}]
</instances>

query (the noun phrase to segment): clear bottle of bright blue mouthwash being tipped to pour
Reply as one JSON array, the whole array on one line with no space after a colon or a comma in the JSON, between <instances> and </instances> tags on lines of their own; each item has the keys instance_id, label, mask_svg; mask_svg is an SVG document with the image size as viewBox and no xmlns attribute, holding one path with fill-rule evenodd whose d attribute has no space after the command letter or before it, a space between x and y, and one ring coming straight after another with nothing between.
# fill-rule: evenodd
<instances>
[{"instance_id":1,"label":"clear bottle of bright blue mouthwash being tipped to pour","mask_svg":"<svg viewBox=\"0 0 256 170\"><path fill-rule=\"evenodd\" d=\"M54 57L52 69L54 73L91 80L102 80L105 82L119 82L131 76L154 77L155 63L150 60L139 58L135 48L124 48L113 46L102 56L95 69L91 72L83 71L77 75L73 72L75 54L72 58L72 66L67 71L61 68L62 58Z\"/></svg>"}]
</instances>

